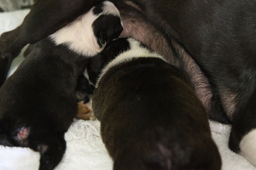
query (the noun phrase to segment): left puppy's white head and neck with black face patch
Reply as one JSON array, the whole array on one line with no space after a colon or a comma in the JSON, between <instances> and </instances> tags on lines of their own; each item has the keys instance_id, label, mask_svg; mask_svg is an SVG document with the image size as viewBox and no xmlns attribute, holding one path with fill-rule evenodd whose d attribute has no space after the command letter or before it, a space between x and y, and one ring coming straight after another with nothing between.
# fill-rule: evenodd
<instances>
[{"instance_id":1,"label":"left puppy's white head and neck with black face patch","mask_svg":"<svg viewBox=\"0 0 256 170\"><path fill-rule=\"evenodd\" d=\"M49 38L55 45L67 45L73 52L90 57L118 38L122 30L118 9L113 3L104 1Z\"/></svg>"}]
</instances>

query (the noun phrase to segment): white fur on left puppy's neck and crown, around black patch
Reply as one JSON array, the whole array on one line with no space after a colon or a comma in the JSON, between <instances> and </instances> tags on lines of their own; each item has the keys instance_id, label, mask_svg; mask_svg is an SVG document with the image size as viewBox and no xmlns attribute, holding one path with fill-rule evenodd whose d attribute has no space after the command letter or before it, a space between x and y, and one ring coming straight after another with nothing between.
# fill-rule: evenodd
<instances>
[{"instance_id":1,"label":"white fur on left puppy's neck and crown, around black patch","mask_svg":"<svg viewBox=\"0 0 256 170\"><path fill-rule=\"evenodd\" d=\"M104 14L120 16L118 9L113 3L105 1L104 4L103 12L100 14L94 15L93 7L84 15L81 15L67 26L60 28L50 35L52 41L56 45L65 43L70 50L79 55L90 57L100 53L105 45L102 48L98 45L97 38L92 29L93 22L100 15Z\"/></svg>"}]
</instances>

